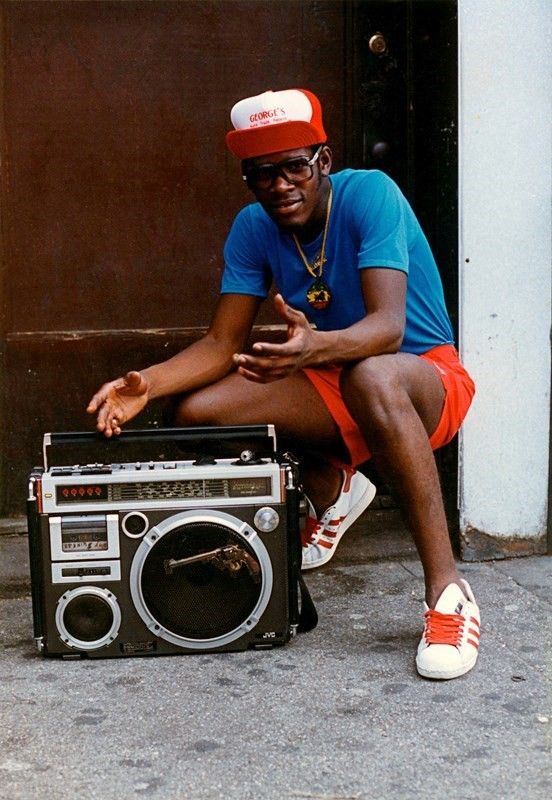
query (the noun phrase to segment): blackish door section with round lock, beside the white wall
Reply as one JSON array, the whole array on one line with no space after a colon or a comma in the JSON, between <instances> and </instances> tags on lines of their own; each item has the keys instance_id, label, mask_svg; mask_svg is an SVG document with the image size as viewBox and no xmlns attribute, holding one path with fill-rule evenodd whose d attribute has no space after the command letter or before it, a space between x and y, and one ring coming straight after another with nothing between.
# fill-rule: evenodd
<instances>
[{"instance_id":1,"label":"blackish door section with round lock, beside the white wall","mask_svg":"<svg viewBox=\"0 0 552 800\"><path fill-rule=\"evenodd\" d=\"M454 0L356 2L355 166L407 195L435 253L457 325L457 14Z\"/></svg>"}]
</instances>

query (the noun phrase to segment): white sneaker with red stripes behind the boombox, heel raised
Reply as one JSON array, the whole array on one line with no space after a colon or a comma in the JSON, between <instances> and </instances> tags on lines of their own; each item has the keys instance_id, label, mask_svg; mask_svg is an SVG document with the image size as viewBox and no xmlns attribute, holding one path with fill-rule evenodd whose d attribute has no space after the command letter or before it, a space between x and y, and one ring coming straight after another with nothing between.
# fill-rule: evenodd
<instances>
[{"instance_id":1,"label":"white sneaker with red stripes behind the boombox, heel raised","mask_svg":"<svg viewBox=\"0 0 552 800\"><path fill-rule=\"evenodd\" d=\"M332 558L347 528L368 508L375 494L376 487L362 472L343 470L341 493L334 505L320 519L310 506L303 534L302 569L321 567Z\"/></svg>"}]
</instances>

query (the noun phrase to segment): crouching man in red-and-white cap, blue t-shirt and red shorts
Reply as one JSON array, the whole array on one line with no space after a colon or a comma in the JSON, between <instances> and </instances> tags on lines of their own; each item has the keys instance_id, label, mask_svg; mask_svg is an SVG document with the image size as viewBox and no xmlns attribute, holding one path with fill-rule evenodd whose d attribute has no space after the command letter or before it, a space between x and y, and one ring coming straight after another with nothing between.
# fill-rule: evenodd
<instances>
[{"instance_id":1,"label":"crouching man in red-and-white cap, blue t-shirt and red shorts","mask_svg":"<svg viewBox=\"0 0 552 800\"><path fill-rule=\"evenodd\" d=\"M246 98L231 119L226 142L257 202L227 238L211 326L174 358L102 386L88 411L106 436L166 396L176 396L178 425L273 423L301 459L310 499L304 569L327 563L373 499L355 469L372 457L424 568L418 672L462 675L477 659L479 611L456 569L432 448L456 434L474 386L429 245L386 175L330 175L311 92ZM287 339L244 352L271 285Z\"/></svg>"}]
</instances>

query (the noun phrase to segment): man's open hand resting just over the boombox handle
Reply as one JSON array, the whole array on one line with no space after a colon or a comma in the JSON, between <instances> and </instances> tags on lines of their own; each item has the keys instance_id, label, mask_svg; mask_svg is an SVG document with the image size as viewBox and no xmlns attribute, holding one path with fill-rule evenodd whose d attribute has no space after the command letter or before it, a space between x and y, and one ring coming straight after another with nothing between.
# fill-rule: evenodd
<instances>
[{"instance_id":1,"label":"man's open hand resting just over the boombox handle","mask_svg":"<svg viewBox=\"0 0 552 800\"><path fill-rule=\"evenodd\" d=\"M86 410L98 415L96 428L109 438L121 433L121 425L142 411L148 395L148 382L142 373L127 372L124 378L104 383Z\"/></svg>"}]
</instances>

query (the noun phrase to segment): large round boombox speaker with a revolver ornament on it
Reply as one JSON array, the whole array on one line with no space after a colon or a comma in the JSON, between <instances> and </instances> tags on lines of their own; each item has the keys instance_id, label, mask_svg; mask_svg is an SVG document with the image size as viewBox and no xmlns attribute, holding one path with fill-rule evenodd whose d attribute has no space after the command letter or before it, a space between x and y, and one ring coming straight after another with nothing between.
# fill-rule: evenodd
<instances>
[{"instance_id":1,"label":"large round boombox speaker with a revolver ornament on it","mask_svg":"<svg viewBox=\"0 0 552 800\"><path fill-rule=\"evenodd\" d=\"M228 514L212 515L165 520L133 565L135 605L150 630L199 649L252 629L272 588L270 559L255 532Z\"/></svg>"}]
</instances>

